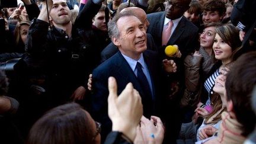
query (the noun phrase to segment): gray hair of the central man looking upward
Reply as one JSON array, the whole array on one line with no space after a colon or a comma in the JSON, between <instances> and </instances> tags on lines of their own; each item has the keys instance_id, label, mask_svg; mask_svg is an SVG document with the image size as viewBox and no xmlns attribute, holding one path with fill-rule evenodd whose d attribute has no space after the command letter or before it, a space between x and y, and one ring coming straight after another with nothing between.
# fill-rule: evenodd
<instances>
[{"instance_id":1,"label":"gray hair of the central man looking upward","mask_svg":"<svg viewBox=\"0 0 256 144\"><path fill-rule=\"evenodd\" d=\"M119 38L120 36L119 30L117 28L117 21L119 20L119 18L131 16L136 17L136 15L133 14L132 11L120 12L119 14L116 14L114 16L114 18L108 23L108 36L110 37L110 39L112 39L112 37Z\"/></svg>"}]
</instances>

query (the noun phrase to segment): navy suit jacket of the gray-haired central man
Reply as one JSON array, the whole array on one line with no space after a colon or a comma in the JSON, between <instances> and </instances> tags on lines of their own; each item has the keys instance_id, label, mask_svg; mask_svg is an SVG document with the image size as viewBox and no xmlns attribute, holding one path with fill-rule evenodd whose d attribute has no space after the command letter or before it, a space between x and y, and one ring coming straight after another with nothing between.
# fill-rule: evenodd
<instances>
[{"instance_id":1,"label":"navy suit jacket of the gray-haired central man","mask_svg":"<svg viewBox=\"0 0 256 144\"><path fill-rule=\"evenodd\" d=\"M108 77L114 76L117 79L117 88L118 94L123 91L126 85L129 82L132 82L133 87L139 91L140 96L142 97L143 104L143 115L146 117L150 117L152 114L156 114L156 103L161 100L159 97L158 84L159 76L161 74L161 64L158 60L158 56L156 52L151 50L146 50L143 53L143 57L145 59L145 63L148 66L149 73L151 75L151 81L153 86L153 95L155 96L155 101L152 100L151 96L145 95L142 91L142 87L139 84L139 81L136 78L135 73L130 68L129 63L127 63L126 59L124 59L121 52L117 52L114 56L110 57L110 59L106 60L104 63L101 63L94 71L92 72L93 76L93 88L94 92L92 94L92 117L94 120L99 121L103 127L103 133L101 136L107 136L107 134L111 131L111 121L108 118L108 107L107 107L107 98L108 98ZM160 71L158 71L160 70ZM162 86L161 86L162 87Z\"/></svg>"}]
</instances>

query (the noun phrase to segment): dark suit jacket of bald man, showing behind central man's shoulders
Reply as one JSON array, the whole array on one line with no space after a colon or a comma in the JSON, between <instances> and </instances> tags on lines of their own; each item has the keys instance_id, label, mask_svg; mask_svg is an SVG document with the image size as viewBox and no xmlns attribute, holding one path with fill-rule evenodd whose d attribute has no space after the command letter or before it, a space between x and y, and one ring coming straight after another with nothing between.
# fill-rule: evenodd
<instances>
[{"instance_id":1,"label":"dark suit jacket of bald man, showing behind central man's shoulders","mask_svg":"<svg viewBox=\"0 0 256 144\"><path fill-rule=\"evenodd\" d=\"M147 49L157 52L155 41L153 41L153 37L149 33L147 33ZM104 62L105 60L109 59L118 51L118 48L114 45L113 42L111 42L110 44L108 44L107 47L105 47L105 49L103 49L103 51L101 51L101 62Z\"/></svg>"}]
</instances>

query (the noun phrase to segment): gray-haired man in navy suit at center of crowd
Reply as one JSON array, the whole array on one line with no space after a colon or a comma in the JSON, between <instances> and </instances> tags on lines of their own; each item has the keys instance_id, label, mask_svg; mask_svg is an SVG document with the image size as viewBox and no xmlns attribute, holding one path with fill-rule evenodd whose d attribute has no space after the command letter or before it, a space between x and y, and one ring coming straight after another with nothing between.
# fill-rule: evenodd
<instances>
[{"instance_id":1,"label":"gray-haired man in navy suit at center of crowd","mask_svg":"<svg viewBox=\"0 0 256 144\"><path fill-rule=\"evenodd\" d=\"M142 22L132 12L122 12L108 24L111 40L119 48L113 57L106 60L92 72L94 79L91 114L102 123L103 140L111 131L111 121L107 115L107 79L117 79L118 94L129 82L142 97L143 114L146 117L157 114L159 80L163 76L162 65L166 72L175 72L174 60L158 60L157 53L146 51L146 31ZM142 81L144 79L144 81ZM147 85L145 85L147 84ZM148 90L146 90L148 88Z\"/></svg>"}]
</instances>

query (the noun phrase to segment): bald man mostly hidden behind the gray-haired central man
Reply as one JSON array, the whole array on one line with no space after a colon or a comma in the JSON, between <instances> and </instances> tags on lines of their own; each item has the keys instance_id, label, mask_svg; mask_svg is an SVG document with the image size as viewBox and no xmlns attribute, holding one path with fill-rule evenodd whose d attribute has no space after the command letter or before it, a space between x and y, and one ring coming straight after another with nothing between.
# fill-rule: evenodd
<instances>
[{"instance_id":1,"label":"bald man mostly hidden behind the gray-haired central man","mask_svg":"<svg viewBox=\"0 0 256 144\"><path fill-rule=\"evenodd\" d=\"M139 18L139 20L143 23L145 30L147 30L149 26L149 21L147 19L146 12L143 9L138 7L129 7L129 8L122 9L120 12L127 12L127 11L133 12L133 14L135 14ZM147 33L147 47L148 47L148 50L157 51L155 41L153 41L153 37L151 36L151 34L148 34L148 33ZM101 52L101 62L104 62L105 60L109 59L111 56L113 56L117 52L118 52L117 47L111 42Z\"/></svg>"}]
</instances>

